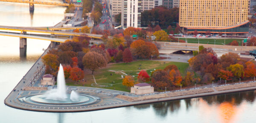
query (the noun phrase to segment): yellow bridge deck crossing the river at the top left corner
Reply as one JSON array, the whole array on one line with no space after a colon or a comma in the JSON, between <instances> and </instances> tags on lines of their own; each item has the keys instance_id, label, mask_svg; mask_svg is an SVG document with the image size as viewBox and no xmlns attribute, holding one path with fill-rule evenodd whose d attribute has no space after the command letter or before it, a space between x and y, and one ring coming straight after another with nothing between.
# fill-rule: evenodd
<instances>
[{"instance_id":1,"label":"yellow bridge deck crossing the river at the top left corner","mask_svg":"<svg viewBox=\"0 0 256 123\"><path fill-rule=\"evenodd\" d=\"M1 2L12 2L12 3L29 3L29 4L42 4L42 5L54 5L54 6L69 6L68 3L52 3L52 2L40 2L40 1L30 1L30 0L0 0ZM76 7L83 7L82 5L76 5Z\"/></svg>"}]
</instances>

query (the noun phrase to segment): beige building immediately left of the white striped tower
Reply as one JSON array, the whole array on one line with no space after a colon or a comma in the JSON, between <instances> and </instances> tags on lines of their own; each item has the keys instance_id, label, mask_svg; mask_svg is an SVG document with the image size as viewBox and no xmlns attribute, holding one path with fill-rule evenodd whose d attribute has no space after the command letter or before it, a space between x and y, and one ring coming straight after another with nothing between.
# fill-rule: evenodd
<instances>
[{"instance_id":1,"label":"beige building immediately left of the white striped tower","mask_svg":"<svg viewBox=\"0 0 256 123\"><path fill-rule=\"evenodd\" d=\"M110 13L111 13L111 20L114 21L114 17L116 14L119 14L122 12L122 0L111 0L110 5Z\"/></svg>"}]
</instances>

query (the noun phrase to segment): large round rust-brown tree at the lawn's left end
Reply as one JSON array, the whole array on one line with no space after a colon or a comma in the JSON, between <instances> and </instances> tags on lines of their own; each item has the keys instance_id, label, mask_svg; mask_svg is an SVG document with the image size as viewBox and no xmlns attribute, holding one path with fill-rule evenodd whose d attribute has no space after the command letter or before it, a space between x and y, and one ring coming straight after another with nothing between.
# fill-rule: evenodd
<instances>
[{"instance_id":1,"label":"large round rust-brown tree at the lawn's left end","mask_svg":"<svg viewBox=\"0 0 256 123\"><path fill-rule=\"evenodd\" d=\"M105 57L102 54L99 54L95 51L89 51L83 57L84 67L90 69L92 71L92 74L96 69L105 67L106 64L107 61Z\"/></svg>"}]
</instances>

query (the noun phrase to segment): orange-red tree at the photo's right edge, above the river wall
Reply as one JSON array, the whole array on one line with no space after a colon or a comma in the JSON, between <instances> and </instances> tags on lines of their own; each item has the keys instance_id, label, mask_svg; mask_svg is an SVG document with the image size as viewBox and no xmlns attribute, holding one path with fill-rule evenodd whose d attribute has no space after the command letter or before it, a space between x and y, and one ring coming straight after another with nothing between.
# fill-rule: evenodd
<instances>
[{"instance_id":1,"label":"orange-red tree at the photo's right edge, above the river wall","mask_svg":"<svg viewBox=\"0 0 256 123\"><path fill-rule=\"evenodd\" d=\"M246 62L246 68L244 69L245 77L255 77L256 76L256 65L255 63L248 61Z\"/></svg>"}]
</instances>

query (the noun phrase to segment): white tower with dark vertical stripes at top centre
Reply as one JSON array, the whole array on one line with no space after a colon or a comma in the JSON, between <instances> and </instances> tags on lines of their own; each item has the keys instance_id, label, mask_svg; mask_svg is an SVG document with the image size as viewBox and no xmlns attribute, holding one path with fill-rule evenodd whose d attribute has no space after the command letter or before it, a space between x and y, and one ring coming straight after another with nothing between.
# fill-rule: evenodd
<instances>
[{"instance_id":1,"label":"white tower with dark vertical stripes at top centre","mask_svg":"<svg viewBox=\"0 0 256 123\"><path fill-rule=\"evenodd\" d=\"M122 27L140 27L141 0L122 0Z\"/></svg>"}]
</instances>

